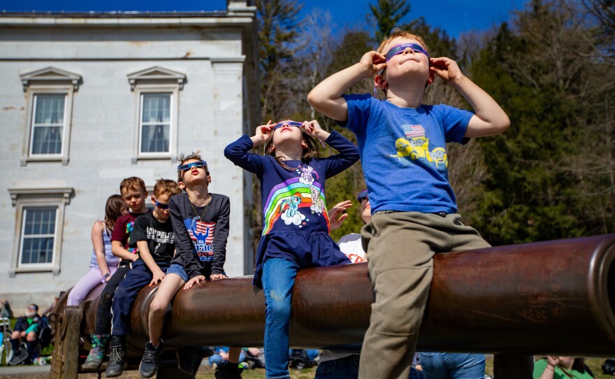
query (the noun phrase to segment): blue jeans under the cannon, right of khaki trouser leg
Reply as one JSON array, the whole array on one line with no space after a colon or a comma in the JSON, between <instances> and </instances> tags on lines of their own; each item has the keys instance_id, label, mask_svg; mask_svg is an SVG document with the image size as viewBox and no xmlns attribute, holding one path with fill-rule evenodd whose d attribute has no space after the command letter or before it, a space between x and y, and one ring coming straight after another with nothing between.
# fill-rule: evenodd
<instances>
[{"instance_id":1,"label":"blue jeans under the cannon, right of khaki trouser leg","mask_svg":"<svg viewBox=\"0 0 615 379\"><path fill-rule=\"evenodd\" d=\"M485 356L450 352L421 352L425 379L484 379Z\"/></svg>"}]
</instances>

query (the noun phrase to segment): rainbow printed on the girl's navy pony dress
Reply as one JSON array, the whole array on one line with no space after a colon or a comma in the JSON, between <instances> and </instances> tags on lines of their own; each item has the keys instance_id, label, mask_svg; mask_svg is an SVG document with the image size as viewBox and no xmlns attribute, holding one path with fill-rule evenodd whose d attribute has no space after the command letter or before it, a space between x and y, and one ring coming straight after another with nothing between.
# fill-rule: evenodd
<instances>
[{"instance_id":1,"label":"rainbow printed on the girl's navy pony dress","mask_svg":"<svg viewBox=\"0 0 615 379\"><path fill-rule=\"evenodd\" d=\"M298 210L303 210L301 213L309 215L308 218L319 217L318 215L312 215L310 210L310 206L312 206L312 193L310 191L310 187L318 188L319 199L321 199L322 203L326 204L324 191L322 190L320 183L315 180L312 185L305 185L299 181L299 178L291 178L271 189L266 202L263 204L263 236L271 231L273 224L275 224L284 212L284 206L288 206L285 200L290 199L291 196L294 196L295 194L301 195L301 203L298 204ZM330 226L328 213L326 212L326 205L322 216L324 216L326 220L328 230Z\"/></svg>"}]
</instances>

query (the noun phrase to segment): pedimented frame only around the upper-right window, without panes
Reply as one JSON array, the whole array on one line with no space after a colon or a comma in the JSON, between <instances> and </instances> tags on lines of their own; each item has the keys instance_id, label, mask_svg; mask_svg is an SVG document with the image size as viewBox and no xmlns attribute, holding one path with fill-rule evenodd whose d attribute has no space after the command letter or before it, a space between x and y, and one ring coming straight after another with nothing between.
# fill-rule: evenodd
<instances>
[{"instance_id":1,"label":"pedimented frame only around the upper-right window, without panes","mask_svg":"<svg viewBox=\"0 0 615 379\"><path fill-rule=\"evenodd\" d=\"M133 156L131 162L136 164L146 159L175 159L178 155L179 99L186 75L158 66L131 73L128 76L131 91L135 94L135 122L133 137ZM141 112L143 111L143 94L171 94L171 129L168 134L168 152L140 152Z\"/></svg>"}]
</instances>

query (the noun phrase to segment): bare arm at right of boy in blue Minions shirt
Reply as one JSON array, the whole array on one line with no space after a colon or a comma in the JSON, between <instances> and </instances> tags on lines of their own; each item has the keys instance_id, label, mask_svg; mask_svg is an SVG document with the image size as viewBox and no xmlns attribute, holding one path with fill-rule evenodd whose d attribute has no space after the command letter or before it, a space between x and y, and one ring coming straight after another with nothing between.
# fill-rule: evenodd
<instances>
[{"instance_id":1,"label":"bare arm at right of boy in blue Minions shirt","mask_svg":"<svg viewBox=\"0 0 615 379\"><path fill-rule=\"evenodd\" d=\"M493 136L508 129L510 120L502 107L481 87L463 75L453 59L432 58L431 71L458 90L474 109L475 115L470 118L465 137Z\"/></svg>"}]
</instances>

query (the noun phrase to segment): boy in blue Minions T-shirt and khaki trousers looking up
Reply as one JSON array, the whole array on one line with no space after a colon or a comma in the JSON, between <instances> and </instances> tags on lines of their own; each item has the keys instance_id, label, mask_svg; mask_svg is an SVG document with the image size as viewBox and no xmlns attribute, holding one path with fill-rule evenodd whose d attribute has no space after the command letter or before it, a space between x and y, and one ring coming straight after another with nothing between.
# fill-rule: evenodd
<instances>
[{"instance_id":1,"label":"boy in blue Minions T-shirt and khaki trousers looking up","mask_svg":"<svg viewBox=\"0 0 615 379\"><path fill-rule=\"evenodd\" d=\"M385 100L345 94L372 76L375 86L386 91ZM475 113L424 105L426 85L435 76L456 88ZM399 29L377 51L366 52L359 63L314 87L307 101L356 134L372 206L371 222L361 235L378 291L359 378L407 378L431 286L433 254L489 246L456 214L446 143L499 134L510 121L456 62L430 57L419 36Z\"/></svg>"}]
</instances>

